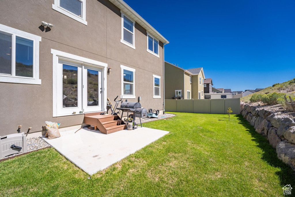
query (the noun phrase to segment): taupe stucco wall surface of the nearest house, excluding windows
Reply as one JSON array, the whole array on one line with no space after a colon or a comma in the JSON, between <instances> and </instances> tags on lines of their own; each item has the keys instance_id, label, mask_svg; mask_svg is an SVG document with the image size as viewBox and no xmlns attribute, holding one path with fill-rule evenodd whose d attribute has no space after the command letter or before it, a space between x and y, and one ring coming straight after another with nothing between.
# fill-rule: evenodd
<instances>
[{"instance_id":1,"label":"taupe stucco wall surface of the nearest house, excluding windows","mask_svg":"<svg viewBox=\"0 0 295 197\"><path fill-rule=\"evenodd\" d=\"M113 100L121 95L120 65L136 69L135 96L141 96L142 107L163 108L163 43L160 58L148 53L146 30L135 23L135 47L120 43L121 12L108 0L87 0L88 25L71 19L52 9L52 1L1 1L0 24L42 37L40 42L41 85L0 83L0 136L15 133L18 125L22 132L44 130L45 121L56 121L61 127L83 123L82 114L53 118L53 56L56 49L77 56L107 63L112 72L106 76L107 97ZM16 14L17 13L17 14ZM53 24L50 31L41 31L41 21ZM161 98L153 99L153 74L161 76Z\"/></svg>"}]
</instances>

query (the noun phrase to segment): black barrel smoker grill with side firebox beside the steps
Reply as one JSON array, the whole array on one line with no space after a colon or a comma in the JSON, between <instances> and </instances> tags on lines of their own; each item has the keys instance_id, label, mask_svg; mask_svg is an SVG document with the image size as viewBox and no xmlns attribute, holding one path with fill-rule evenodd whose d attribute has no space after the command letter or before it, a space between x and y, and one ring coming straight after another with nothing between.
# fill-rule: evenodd
<instances>
[{"instance_id":1,"label":"black barrel smoker grill with side firebox beside the steps","mask_svg":"<svg viewBox=\"0 0 295 197\"><path fill-rule=\"evenodd\" d=\"M134 129L134 123L135 123L135 118L139 118L140 120L140 125L141 124L141 118L144 118L148 115L148 111L145 108L141 108L141 104L139 102L122 102L120 108L117 108L118 110L122 111L122 116L123 117L123 112L127 112L127 118L128 118L128 113L133 113L133 129Z\"/></svg>"}]
</instances>

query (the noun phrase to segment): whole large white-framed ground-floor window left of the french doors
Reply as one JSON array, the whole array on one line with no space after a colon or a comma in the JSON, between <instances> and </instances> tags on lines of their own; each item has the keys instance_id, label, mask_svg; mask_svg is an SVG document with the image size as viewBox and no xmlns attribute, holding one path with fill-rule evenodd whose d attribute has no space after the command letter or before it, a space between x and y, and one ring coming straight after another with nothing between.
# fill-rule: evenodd
<instances>
[{"instance_id":1,"label":"whole large white-framed ground-floor window left of the french doors","mask_svg":"<svg viewBox=\"0 0 295 197\"><path fill-rule=\"evenodd\" d=\"M0 24L0 82L38 84L41 37Z\"/></svg>"}]
</instances>

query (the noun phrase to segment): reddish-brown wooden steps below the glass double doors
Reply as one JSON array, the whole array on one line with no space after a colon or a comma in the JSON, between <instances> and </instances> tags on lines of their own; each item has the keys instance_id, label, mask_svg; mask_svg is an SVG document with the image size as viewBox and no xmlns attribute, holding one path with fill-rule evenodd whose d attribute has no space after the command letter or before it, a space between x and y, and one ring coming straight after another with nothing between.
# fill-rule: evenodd
<instances>
[{"instance_id":1,"label":"reddish-brown wooden steps below the glass double doors","mask_svg":"<svg viewBox=\"0 0 295 197\"><path fill-rule=\"evenodd\" d=\"M127 125L118 115L85 114L84 123L95 126L95 130L110 134L127 128Z\"/></svg>"}]
</instances>

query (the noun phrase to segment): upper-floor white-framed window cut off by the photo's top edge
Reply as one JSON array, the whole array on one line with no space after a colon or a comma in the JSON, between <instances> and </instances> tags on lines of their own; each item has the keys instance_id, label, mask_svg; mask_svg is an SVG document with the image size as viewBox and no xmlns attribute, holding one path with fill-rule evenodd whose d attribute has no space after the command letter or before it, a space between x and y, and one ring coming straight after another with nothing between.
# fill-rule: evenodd
<instances>
[{"instance_id":1,"label":"upper-floor white-framed window cut off by the photo's top edge","mask_svg":"<svg viewBox=\"0 0 295 197\"><path fill-rule=\"evenodd\" d=\"M54 0L52 9L87 25L86 0Z\"/></svg>"}]
</instances>

